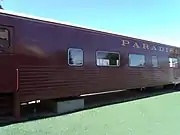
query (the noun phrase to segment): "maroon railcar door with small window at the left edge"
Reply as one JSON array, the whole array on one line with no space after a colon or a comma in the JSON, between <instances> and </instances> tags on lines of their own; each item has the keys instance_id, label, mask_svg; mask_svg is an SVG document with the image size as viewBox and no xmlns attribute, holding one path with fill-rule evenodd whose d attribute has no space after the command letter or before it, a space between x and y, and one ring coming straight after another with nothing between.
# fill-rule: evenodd
<instances>
[{"instance_id":1,"label":"maroon railcar door with small window at the left edge","mask_svg":"<svg viewBox=\"0 0 180 135\"><path fill-rule=\"evenodd\" d=\"M9 93L16 89L12 35L12 27L0 25L0 93Z\"/></svg>"}]
</instances>

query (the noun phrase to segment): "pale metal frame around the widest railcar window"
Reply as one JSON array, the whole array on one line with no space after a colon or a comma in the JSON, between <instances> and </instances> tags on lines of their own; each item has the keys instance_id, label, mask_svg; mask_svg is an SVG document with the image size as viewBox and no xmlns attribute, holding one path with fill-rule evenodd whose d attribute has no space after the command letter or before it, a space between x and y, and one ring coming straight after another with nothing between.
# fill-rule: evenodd
<instances>
[{"instance_id":1,"label":"pale metal frame around the widest railcar window","mask_svg":"<svg viewBox=\"0 0 180 135\"><path fill-rule=\"evenodd\" d=\"M115 53L115 54L118 54L118 58L119 58L119 64L118 65L98 65L97 64L97 54L98 54L98 52L103 52L103 53ZM96 66L98 66L98 67L120 67L120 63L121 63L121 56L120 56L121 54L119 53L119 52L114 52L114 51L96 51L96 55L95 55L95 62L96 62Z\"/></svg>"}]
</instances>

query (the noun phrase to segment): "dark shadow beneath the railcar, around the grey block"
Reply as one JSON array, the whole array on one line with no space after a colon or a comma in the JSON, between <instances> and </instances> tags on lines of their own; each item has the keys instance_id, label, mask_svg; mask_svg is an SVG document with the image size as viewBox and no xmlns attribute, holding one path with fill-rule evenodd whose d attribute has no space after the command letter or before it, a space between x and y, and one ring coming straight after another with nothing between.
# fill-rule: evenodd
<instances>
[{"instance_id":1,"label":"dark shadow beneath the railcar, around the grey block","mask_svg":"<svg viewBox=\"0 0 180 135\"><path fill-rule=\"evenodd\" d=\"M163 89L160 88L147 88L145 91L140 91L140 89L131 89L125 91L114 91L106 94L97 94L97 95L88 95L84 97L76 97L76 98L68 98L68 99L56 99L56 100L44 100L39 103L33 103L30 105L22 105L21 106L21 114L22 118L19 121L9 120L6 123L1 122L1 126L17 123L17 122L25 122L30 120L43 119L48 117L55 116L63 116L66 114L88 110L98 107L103 107L107 105L113 105L118 103L130 102L134 100L139 100L143 98L149 98L153 96L168 94L177 92L177 89L170 89L172 86L166 86ZM85 107L84 109L79 109L76 111L71 111L67 113L57 114L55 109L55 103L57 101L66 101L73 100L77 98L83 98Z\"/></svg>"}]
</instances>

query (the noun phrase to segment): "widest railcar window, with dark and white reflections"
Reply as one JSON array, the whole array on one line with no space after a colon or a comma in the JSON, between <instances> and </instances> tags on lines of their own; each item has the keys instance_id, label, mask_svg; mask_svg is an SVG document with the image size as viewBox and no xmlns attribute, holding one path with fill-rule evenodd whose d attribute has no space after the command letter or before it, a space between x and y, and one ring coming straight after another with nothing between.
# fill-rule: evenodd
<instances>
[{"instance_id":1,"label":"widest railcar window, with dark and white reflections","mask_svg":"<svg viewBox=\"0 0 180 135\"><path fill-rule=\"evenodd\" d=\"M98 66L119 66L120 54L117 52L96 52L96 64Z\"/></svg>"}]
</instances>

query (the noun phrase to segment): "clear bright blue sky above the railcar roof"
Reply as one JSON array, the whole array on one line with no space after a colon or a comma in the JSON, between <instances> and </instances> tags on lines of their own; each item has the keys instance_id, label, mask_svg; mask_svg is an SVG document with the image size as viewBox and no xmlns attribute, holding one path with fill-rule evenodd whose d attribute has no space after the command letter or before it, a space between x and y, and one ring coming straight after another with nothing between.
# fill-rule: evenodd
<instances>
[{"instance_id":1,"label":"clear bright blue sky above the railcar roof","mask_svg":"<svg viewBox=\"0 0 180 135\"><path fill-rule=\"evenodd\" d=\"M180 46L180 0L3 0L2 6Z\"/></svg>"}]
</instances>

